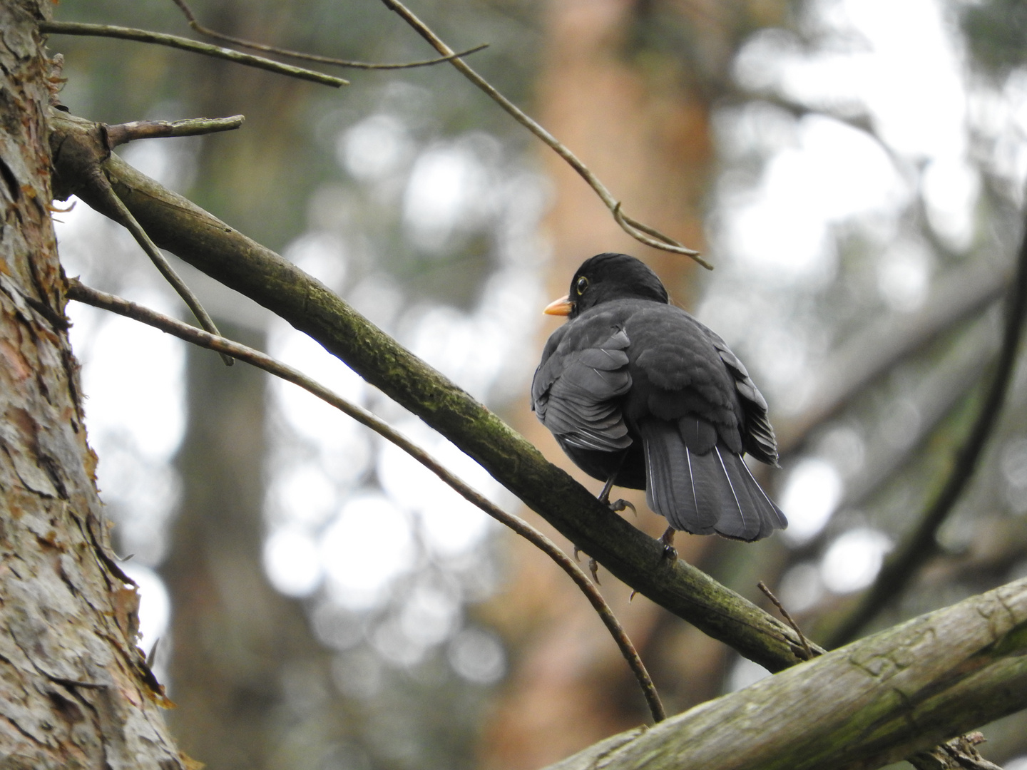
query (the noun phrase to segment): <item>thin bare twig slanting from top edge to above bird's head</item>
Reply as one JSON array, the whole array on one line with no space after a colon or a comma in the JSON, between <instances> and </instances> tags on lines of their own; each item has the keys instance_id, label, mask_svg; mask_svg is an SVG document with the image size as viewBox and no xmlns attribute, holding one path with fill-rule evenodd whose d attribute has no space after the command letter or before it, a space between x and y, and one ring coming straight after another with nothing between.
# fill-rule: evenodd
<instances>
[{"instance_id":1,"label":"thin bare twig slanting from top edge to above bird's head","mask_svg":"<svg viewBox=\"0 0 1027 770\"><path fill-rule=\"evenodd\" d=\"M413 27L417 34L427 40L436 51L447 56L453 55L453 49L443 42L443 40L435 35L435 33L424 24L424 22L414 15L414 13L407 6L401 3L400 0L382 0L382 2L385 3L386 7L390 10L398 13L400 16L407 24ZM488 80L474 72L465 62L460 59L453 59L450 64L459 70L460 73L470 82L485 91L485 93L488 94L493 102L502 107L521 125L538 137L538 139L556 151L560 157L566 160L571 168L577 171L581 179L587 182L588 186L596 191L596 194L599 195L603 203L606 204L606 207L610 209L610 213L613 215L613 219L618 225L620 225L624 232L646 245L650 245L653 248L659 248L664 252L686 255L691 257L708 270L713 270L713 265L701 259L698 256L698 252L692 248L687 248L669 235L664 235L658 230L655 230L647 225L643 225L640 222L625 216L620 210L620 201L613 197L613 194L606 188L606 185L604 185L599 178L593 174L592 170L589 170L588 166L582 163L574 153L561 144L556 137L545 130L545 128L543 128L537 121L529 117L520 107L497 91Z\"/></svg>"}]
</instances>

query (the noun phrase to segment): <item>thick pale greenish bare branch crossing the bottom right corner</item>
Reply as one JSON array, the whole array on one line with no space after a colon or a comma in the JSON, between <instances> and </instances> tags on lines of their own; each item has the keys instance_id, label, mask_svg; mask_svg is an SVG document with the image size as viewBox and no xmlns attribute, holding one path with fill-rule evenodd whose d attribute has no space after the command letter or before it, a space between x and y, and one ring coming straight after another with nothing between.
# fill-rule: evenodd
<instances>
[{"instance_id":1,"label":"thick pale greenish bare branch crossing the bottom right corner","mask_svg":"<svg viewBox=\"0 0 1027 770\"><path fill-rule=\"evenodd\" d=\"M1025 706L1022 579L547 770L873 770Z\"/></svg>"}]
</instances>

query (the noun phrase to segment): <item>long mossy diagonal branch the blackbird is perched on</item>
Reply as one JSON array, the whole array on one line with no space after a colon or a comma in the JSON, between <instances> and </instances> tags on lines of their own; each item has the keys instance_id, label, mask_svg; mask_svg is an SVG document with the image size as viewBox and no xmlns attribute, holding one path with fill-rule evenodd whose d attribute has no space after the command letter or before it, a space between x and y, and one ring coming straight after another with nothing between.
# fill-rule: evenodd
<instances>
[{"instance_id":1,"label":"long mossy diagonal branch the blackbird is perched on","mask_svg":"<svg viewBox=\"0 0 1027 770\"><path fill-rule=\"evenodd\" d=\"M125 205L162 248L281 316L485 467L615 577L772 671L803 657L795 632L612 513L466 392L274 252L104 149L94 123L51 114L54 190L103 214L84 186L100 163Z\"/></svg>"}]
</instances>

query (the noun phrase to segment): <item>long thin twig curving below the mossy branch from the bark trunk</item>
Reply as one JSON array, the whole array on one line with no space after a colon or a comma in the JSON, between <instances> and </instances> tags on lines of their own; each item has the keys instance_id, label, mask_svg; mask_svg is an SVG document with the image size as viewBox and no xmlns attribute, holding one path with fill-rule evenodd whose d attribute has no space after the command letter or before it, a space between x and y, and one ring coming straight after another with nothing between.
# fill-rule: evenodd
<instances>
[{"instance_id":1,"label":"long thin twig curving below the mossy branch from the bark trunk","mask_svg":"<svg viewBox=\"0 0 1027 770\"><path fill-rule=\"evenodd\" d=\"M216 350L223 355L238 358L241 361L245 361L246 363L251 363L258 369L264 370L275 377L279 377L287 382L299 385L307 392L312 393L322 401L330 403L340 412L349 415L362 425L371 428L383 438L386 438L394 444L439 476L443 482L456 490L461 497L477 505L490 516L514 530L514 532L521 535L521 537L525 538L533 545L544 551L546 555L556 562L557 565L559 565L560 568L570 576L570 578L581 589L581 591L585 594L585 598L587 598L588 602L595 608L603 623L606 625L607 629L609 629L614 642L616 642L617 647L620 648L620 652L624 656L624 659L632 667L632 671L634 671L635 677L639 682L639 686L642 688L642 692L645 695L646 702L649 704L649 710L652 714L653 721L661 722L665 719L667 715L663 711L663 705L659 700L656 687L653 685L652 679L649 677L649 672L642 663L642 658L639 657L638 651L635 649L635 645L632 644L631 639L627 637L627 632L614 616L610 606L606 603L606 600L603 599L603 594L600 593L599 589L592 584L588 580L588 576L581 571L580 567L574 564L573 560L564 553L556 543L523 518L520 518L512 513L507 513L502 508L482 496L479 492L468 487L460 478L453 475L449 470L442 466L433 457L431 457L431 455L410 441L410 439L402 433L393 430L389 425L384 423L372 413L362 407L350 403L337 393L334 393L317 382L314 382L303 373L275 360L259 350L246 347L245 345L240 345L237 342L232 342L224 337L203 332L195 326L190 326L188 323L183 323L176 318L162 315L161 313L150 310L149 308L141 305L137 305L136 303L129 302L120 297L115 297L113 295L90 288L75 278L70 278L68 281L67 296L69 299L77 300L79 302L103 308L105 310L110 310L112 312L119 313L120 315L127 316L128 318L142 321L143 323L159 329L162 332L166 332L167 334L174 335L194 345L210 348L211 350Z\"/></svg>"}]
</instances>

